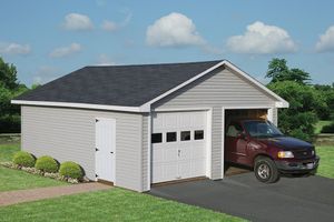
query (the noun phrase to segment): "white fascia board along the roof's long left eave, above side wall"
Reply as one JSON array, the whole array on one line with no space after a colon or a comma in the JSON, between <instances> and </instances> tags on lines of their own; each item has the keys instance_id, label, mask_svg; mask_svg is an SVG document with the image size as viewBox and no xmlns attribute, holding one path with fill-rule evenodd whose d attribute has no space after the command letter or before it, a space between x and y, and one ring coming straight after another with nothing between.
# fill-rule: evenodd
<instances>
[{"instance_id":1,"label":"white fascia board along the roof's long left eave, above side wall","mask_svg":"<svg viewBox=\"0 0 334 222\"><path fill-rule=\"evenodd\" d=\"M12 104L40 105L40 107L62 107L62 108L81 108L81 109L94 109L94 110L125 111L125 112L143 112L140 110L140 107L121 107L121 105L29 101L29 100L11 100L11 103Z\"/></svg>"}]
</instances>

